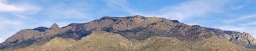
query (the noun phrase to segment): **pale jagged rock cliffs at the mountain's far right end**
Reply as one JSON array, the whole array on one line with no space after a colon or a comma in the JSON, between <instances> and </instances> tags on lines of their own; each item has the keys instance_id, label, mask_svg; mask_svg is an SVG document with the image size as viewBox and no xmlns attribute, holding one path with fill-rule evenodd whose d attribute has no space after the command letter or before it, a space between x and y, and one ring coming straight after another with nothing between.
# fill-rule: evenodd
<instances>
[{"instance_id":1,"label":"pale jagged rock cliffs at the mountain's far right end","mask_svg":"<svg viewBox=\"0 0 256 51\"><path fill-rule=\"evenodd\" d=\"M218 35L218 38L222 40L227 40L230 42L234 42L237 45L255 45L256 40L252 37L252 35L248 33L240 33L237 31L226 31L226 30L220 30L220 29L214 29L214 28L206 28L209 31L214 31L216 35Z\"/></svg>"}]
</instances>

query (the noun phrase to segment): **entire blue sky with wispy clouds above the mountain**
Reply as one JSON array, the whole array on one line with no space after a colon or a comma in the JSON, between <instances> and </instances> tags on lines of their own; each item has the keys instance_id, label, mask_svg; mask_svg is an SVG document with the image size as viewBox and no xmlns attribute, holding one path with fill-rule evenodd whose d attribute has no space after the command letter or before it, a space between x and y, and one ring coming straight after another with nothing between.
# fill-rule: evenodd
<instances>
[{"instance_id":1,"label":"entire blue sky with wispy clouds above the mountain","mask_svg":"<svg viewBox=\"0 0 256 51\"><path fill-rule=\"evenodd\" d=\"M157 16L256 37L256 0L0 0L0 42L38 26L129 15Z\"/></svg>"}]
</instances>

